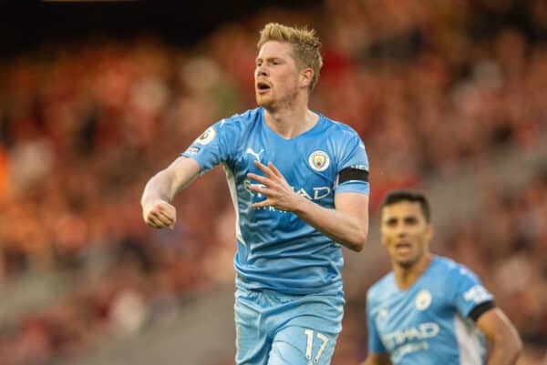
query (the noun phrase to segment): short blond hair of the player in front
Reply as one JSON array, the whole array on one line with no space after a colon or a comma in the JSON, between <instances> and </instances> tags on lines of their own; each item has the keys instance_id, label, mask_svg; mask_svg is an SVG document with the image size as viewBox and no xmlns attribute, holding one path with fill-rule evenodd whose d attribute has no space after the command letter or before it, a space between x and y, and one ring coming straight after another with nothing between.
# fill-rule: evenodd
<instances>
[{"instance_id":1,"label":"short blond hair of the player in front","mask_svg":"<svg viewBox=\"0 0 547 365\"><path fill-rule=\"evenodd\" d=\"M309 86L309 91L312 91L315 84L317 84L319 71L323 66L323 58L319 51L321 42L319 37L315 35L315 30L306 27L299 28L279 23L268 23L260 31L260 39L256 46L260 50L266 42L270 41L285 42L292 45L292 56L296 66L300 69L309 67L314 70L314 76Z\"/></svg>"}]
</instances>

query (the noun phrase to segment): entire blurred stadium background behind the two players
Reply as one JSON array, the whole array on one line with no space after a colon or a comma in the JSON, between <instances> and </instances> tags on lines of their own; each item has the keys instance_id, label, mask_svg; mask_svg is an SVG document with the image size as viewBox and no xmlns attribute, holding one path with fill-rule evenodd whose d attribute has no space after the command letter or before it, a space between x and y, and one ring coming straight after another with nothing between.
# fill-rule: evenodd
<instances>
[{"instance_id":1,"label":"entire blurred stadium background behind the two players","mask_svg":"<svg viewBox=\"0 0 547 365\"><path fill-rule=\"evenodd\" d=\"M377 207L428 193L432 250L468 265L547 364L547 1L0 0L0 365L233 364L234 214L222 169L141 220L144 184L254 107L258 31L309 25L315 110L371 161L371 233L345 250L333 365L366 357L387 273Z\"/></svg>"}]
</instances>

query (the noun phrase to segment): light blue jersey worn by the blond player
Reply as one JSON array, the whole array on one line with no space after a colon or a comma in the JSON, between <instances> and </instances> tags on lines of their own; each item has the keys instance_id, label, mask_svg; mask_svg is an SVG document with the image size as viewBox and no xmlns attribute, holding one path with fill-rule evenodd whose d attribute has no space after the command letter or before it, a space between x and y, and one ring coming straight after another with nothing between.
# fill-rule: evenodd
<instances>
[{"instance_id":1,"label":"light blue jersey worn by the blond player","mask_svg":"<svg viewBox=\"0 0 547 365\"><path fill-rule=\"evenodd\" d=\"M346 167L368 171L365 145L356 131L319 116L303 134L285 139L267 126L263 107L222 119L209 127L185 152L201 173L222 163L236 211L236 285L274 289L285 294L342 293L341 246L294 213L252 208L265 199L249 187L263 175L254 160L272 162L294 191L315 203L334 208L335 194L368 194L368 182L337 183Z\"/></svg>"}]
</instances>

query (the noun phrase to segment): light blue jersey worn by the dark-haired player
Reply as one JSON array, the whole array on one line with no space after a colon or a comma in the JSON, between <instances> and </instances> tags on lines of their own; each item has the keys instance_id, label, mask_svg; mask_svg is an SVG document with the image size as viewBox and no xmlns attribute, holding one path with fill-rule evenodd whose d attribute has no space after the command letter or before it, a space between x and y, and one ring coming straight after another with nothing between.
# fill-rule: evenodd
<instances>
[{"instance_id":1,"label":"light blue jersey worn by the dark-haired player","mask_svg":"<svg viewBox=\"0 0 547 365\"><path fill-rule=\"evenodd\" d=\"M367 293L368 350L388 352L395 365L479 365L484 337L468 316L493 300L469 269L434 257L407 290L397 288L393 272Z\"/></svg>"}]
</instances>

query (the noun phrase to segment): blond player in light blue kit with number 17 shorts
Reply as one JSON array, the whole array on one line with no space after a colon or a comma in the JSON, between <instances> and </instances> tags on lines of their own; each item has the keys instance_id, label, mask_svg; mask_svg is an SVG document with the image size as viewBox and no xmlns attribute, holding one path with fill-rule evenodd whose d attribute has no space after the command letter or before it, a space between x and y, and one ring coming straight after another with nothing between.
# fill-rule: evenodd
<instances>
[{"instance_id":1,"label":"blond player in light blue kit with number 17 shorts","mask_svg":"<svg viewBox=\"0 0 547 365\"><path fill-rule=\"evenodd\" d=\"M326 365L341 330L342 246L368 233L368 159L356 132L308 109L322 58L313 30L260 33L258 107L207 128L152 177L141 198L153 228L175 224L175 193L222 164L236 210L239 365Z\"/></svg>"}]
</instances>

